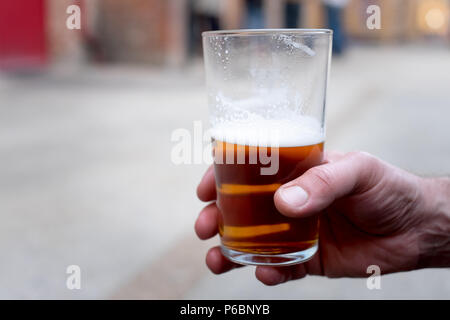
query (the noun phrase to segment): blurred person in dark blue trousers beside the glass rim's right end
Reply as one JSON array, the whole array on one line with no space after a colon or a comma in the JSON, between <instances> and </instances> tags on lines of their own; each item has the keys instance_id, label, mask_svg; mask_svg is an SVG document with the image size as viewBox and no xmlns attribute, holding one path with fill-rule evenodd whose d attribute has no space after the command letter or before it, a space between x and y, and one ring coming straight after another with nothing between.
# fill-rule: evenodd
<instances>
[{"instance_id":1,"label":"blurred person in dark blue trousers beside the glass rim's right end","mask_svg":"<svg viewBox=\"0 0 450 320\"><path fill-rule=\"evenodd\" d=\"M322 0L325 7L327 27L333 30L333 54L343 53L347 36L343 25L343 12L348 0Z\"/></svg>"}]
</instances>

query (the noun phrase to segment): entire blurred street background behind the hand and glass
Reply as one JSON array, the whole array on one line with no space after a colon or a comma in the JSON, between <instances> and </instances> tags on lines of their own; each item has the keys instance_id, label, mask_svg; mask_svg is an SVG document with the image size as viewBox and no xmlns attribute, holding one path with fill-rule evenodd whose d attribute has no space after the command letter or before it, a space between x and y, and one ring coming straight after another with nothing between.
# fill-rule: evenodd
<instances>
[{"instance_id":1,"label":"entire blurred street background behind the hand and glass","mask_svg":"<svg viewBox=\"0 0 450 320\"><path fill-rule=\"evenodd\" d=\"M327 27L326 147L448 174L449 21L447 0L2 0L0 298L449 299L448 269L387 275L381 290L212 275L219 239L193 232L207 166L171 161L174 130L207 126L202 31Z\"/></svg>"}]
</instances>

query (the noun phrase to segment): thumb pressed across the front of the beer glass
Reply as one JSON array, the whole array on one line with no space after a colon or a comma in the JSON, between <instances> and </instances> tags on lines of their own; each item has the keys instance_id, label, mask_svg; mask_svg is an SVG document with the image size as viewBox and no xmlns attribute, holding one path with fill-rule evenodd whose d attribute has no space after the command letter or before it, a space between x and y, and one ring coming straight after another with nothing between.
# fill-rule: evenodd
<instances>
[{"instance_id":1,"label":"thumb pressed across the front of the beer glass","mask_svg":"<svg viewBox=\"0 0 450 320\"><path fill-rule=\"evenodd\" d=\"M336 199L370 189L379 171L375 157L364 152L348 153L282 185L275 193L275 206L288 217L317 214Z\"/></svg>"}]
</instances>

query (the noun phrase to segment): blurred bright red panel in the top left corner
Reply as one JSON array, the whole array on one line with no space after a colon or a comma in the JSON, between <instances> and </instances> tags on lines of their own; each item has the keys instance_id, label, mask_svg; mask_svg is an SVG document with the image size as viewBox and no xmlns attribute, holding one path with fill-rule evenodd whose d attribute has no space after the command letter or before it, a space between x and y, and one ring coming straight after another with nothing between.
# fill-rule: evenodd
<instances>
[{"instance_id":1,"label":"blurred bright red panel in the top left corner","mask_svg":"<svg viewBox=\"0 0 450 320\"><path fill-rule=\"evenodd\" d=\"M45 62L45 1L0 1L0 67Z\"/></svg>"}]
</instances>

